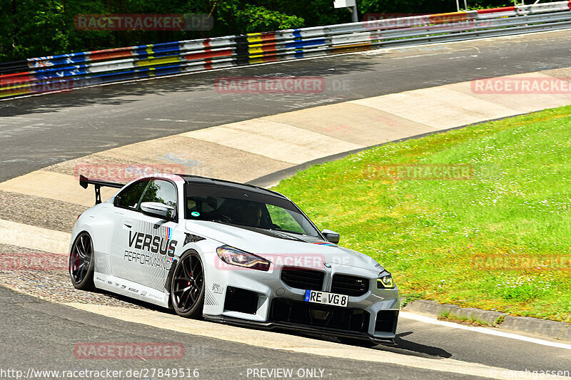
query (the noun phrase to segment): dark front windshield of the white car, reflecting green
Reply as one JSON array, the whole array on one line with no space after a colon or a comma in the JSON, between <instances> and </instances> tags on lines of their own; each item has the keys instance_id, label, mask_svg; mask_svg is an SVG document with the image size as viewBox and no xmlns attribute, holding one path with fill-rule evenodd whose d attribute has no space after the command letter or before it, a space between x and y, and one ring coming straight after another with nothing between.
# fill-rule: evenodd
<instances>
[{"instance_id":1,"label":"dark front windshield of the white car, reflecting green","mask_svg":"<svg viewBox=\"0 0 571 380\"><path fill-rule=\"evenodd\" d=\"M267 193L188 185L186 219L318 237L318 230L290 200Z\"/></svg>"}]
</instances>

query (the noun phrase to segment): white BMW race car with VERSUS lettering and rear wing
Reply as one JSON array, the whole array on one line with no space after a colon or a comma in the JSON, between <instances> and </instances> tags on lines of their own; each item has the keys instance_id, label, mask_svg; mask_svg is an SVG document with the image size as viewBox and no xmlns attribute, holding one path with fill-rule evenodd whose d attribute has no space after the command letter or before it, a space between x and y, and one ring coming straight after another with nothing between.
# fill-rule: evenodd
<instances>
[{"instance_id":1,"label":"white BMW race car with VERSUS lettering and rear wing","mask_svg":"<svg viewBox=\"0 0 571 380\"><path fill-rule=\"evenodd\" d=\"M77 289L104 289L183 317L391 342L398 288L378 262L337 245L288 197L191 175L89 180L96 205L71 237ZM120 188L101 202L101 187Z\"/></svg>"}]
</instances>

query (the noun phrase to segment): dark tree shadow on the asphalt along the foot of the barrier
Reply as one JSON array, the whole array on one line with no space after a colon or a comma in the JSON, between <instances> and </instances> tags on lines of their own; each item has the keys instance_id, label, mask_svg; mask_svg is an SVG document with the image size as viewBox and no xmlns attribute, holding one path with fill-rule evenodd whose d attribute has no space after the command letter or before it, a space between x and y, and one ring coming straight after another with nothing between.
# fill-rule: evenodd
<instances>
[{"instance_id":1,"label":"dark tree shadow on the asphalt along the foot of the barrier","mask_svg":"<svg viewBox=\"0 0 571 380\"><path fill-rule=\"evenodd\" d=\"M334 68L334 70L330 70L330 68ZM6 99L6 101L0 102L0 115L17 116L56 112L65 108L85 107L92 104L118 106L136 102L138 96L149 94L160 97L167 96L169 93L197 93L193 96L197 99L206 95L208 98L215 98L218 101L243 101L243 93L218 93L214 91L216 78L319 76L327 81L328 78L333 76L363 71L374 71L373 62L363 59L357 60L351 56L325 57L311 61L284 61L272 65L188 73L187 75L171 78L156 77L145 81L78 88L73 91L49 93L43 96ZM305 98L323 98L323 96L328 96L330 98L335 95L334 92L335 88L331 91L326 89L323 93L297 93L295 96L304 96ZM346 93L347 91L344 92ZM277 100L279 100L279 97L284 96L283 93L261 93L258 95L262 98L276 98ZM291 94L285 94L285 96L288 95ZM358 94L355 94L355 98L358 97ZM345 96L338 99L338 101L345 100L348 100ZM160 101L160 98L158 101Z\"/></svg>"}]
</instances>

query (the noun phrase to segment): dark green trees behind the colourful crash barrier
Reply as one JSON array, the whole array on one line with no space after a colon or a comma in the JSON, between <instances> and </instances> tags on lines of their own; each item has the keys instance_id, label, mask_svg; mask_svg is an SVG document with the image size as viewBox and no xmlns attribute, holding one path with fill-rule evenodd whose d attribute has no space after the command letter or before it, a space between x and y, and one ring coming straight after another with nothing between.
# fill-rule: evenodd
<instances>
[{"instance_id":1,"label":"dark green trees behind the colourful crash barrier","mask_svg":"<svg viewBox=\"0 0 571 380\"><path fill-rule=\"evenodd\" d=\"M367 13L440 13L455 0L357 0ZM463 4L463 0L460 0ZM472 8L507 1L469 1ZM210 14L209 31L80 31L79 14ZM333 0L0 0L0 61L119 46L350 22Z\"/></svg>"}]
</instances>

